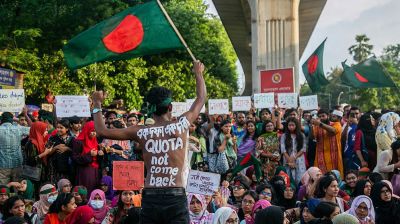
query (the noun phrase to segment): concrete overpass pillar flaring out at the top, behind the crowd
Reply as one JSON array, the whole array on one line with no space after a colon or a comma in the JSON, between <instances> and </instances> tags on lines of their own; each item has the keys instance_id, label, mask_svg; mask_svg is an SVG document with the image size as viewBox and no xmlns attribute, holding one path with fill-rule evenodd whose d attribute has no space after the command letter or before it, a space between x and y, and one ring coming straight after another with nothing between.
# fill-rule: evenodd
<instances>
[{"instance_id":1,"label":"concrete overpass pillar flaring out at the top, behind the crowd","mask_svg":"<svg viewBox=\"0 0 400 224\"><path fill-rule=\"evenodd\" d=\"M242 63L244 95L260 92L259 71L294 67L299 91L299 59L327 0L213 0Z\"/></svg>"}]
</instances>

